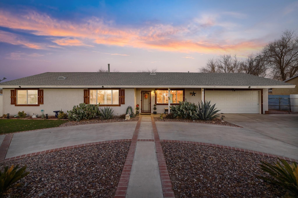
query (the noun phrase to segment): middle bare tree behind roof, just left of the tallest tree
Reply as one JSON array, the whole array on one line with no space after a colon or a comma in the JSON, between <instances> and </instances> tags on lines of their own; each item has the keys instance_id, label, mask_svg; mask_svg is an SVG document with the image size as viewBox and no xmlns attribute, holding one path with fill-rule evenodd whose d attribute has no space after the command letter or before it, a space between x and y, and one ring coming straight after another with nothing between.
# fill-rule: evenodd
<instances>
[{"instance_id":1,"label":"middle bare tree behind roof, just left of the tallest tree","mask_svg":"<svg viewBox=\"0 0 298 198\"><path fill-rule=\"evenodd\" d=\"M248 58L240 62L240 70L243 73L266 77L267 67L262 54L250 54Z\"/></svg>"}]
</instances>

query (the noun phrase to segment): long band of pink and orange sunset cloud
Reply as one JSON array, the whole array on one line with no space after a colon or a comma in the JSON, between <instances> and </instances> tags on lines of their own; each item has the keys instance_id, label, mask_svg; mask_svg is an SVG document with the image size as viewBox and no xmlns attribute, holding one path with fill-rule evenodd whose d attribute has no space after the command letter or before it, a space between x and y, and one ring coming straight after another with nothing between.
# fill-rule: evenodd
<instances>
[{"instance_id":1,"label":"long band of pink and orange sunset cloud","mask_svg":"<svg viewBox=\"0 0 298 198\"><path fill-rule=\"evenodd\" d=\"M233 53L245 50L258 50L263 45L252 41L232 41L224 39L210 39L204 34L196 35L197 40L187 37L195 29L209 28L219 25L217 15L205 15L186 26L173 26L169 24L155 24L142 28L117 28L113 22L104 22L99 18L89 18L80 23L53 19L46 14L28 12L17 16L10 12L0 10L0 26L22 29L33 32L35 35L54 37L53 42L59 46L92 46L90 44L104 44L154 49L175 52L197 53ZM233 27L235 24L226 23ZM190 28L192 27L192 28ZM55 39L55 37L65 37ZM70 39L73 38L73 39ZM16 39L10 39L14 44ZM212 40L213 43L210 42ZM232 43L232 44L231 44ZM24 43L27 47L38 48L38 45ZM53 47L53 46L50 46ZM115 54L116 55L116 54Z\"/></svg>"}]
</instances>

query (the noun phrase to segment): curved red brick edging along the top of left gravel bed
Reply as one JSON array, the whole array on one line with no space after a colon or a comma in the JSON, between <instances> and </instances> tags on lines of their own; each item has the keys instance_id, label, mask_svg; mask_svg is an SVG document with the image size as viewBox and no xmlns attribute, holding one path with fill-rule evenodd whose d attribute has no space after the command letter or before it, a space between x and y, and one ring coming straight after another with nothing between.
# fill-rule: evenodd
<instances>
[{"instance_id":1,"label":"curved red brick edging along the top of left gravel bed","mask_svg":"<svg viewBox=\"0 0 298 198\"><path fill-rule=\"evenodd\" d=\"M128 141L131 141L131 139L106 140L106 141L101 141L101 142L92 142L92 143L86 143L86 144L78 144L78 145L73 145L73 146L66 146L66 147L54 148L54 149L49 149L49 150L46 150L46 151L38 151L38 152L34 152L34 153L29 153L29 154L23 154L23 155L19 155L19 156L15 156L15 157L10 157L10 158L4 159L4 161L1 161L0 160L0 163L1 162L7 162L7 161L15 160L15 159L21 159L21 158L29 157L29 156L35 156L35 155L39 155L39 154L43 154L43 153L52 153L52 152L55 152L55 151L62 151L62 150L71 149L71 148L78 148L78 147L84 147L84 146L90 146L90 145L98 145L98 144L105 144L105 143L112 143L112 142L128 142Z\"/></svg>"}]
</instances>

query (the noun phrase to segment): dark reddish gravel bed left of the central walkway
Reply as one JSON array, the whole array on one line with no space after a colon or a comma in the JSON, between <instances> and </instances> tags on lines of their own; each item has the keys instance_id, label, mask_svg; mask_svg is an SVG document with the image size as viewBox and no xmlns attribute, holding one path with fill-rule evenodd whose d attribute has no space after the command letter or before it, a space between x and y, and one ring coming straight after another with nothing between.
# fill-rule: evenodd
<instances>
[{"instance_id":1,"label":"dark reddish gravel bed left of the central walkway","mask_svg":"<svg viewBox=\"0 0 298 198\"><path fill-rule=\"evenodd\" d=\"M14 197L114 197L130 142L115 142L26 157L0 165L27 165Z\"/></svg>"}]
</instances>

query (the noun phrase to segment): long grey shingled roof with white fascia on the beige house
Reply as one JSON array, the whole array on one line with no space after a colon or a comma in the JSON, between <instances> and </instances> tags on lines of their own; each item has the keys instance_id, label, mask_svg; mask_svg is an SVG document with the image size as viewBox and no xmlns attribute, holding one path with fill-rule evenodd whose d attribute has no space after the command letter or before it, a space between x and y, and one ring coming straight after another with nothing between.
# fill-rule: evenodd
<instances>
[{"instance_id":1,"label":"long grey shingled roof with white fascia on the beige house","mask_svg":"<svg viewBox=\"0 0 298 198\"><path fill-rule=\"evenodd\" d=\"M64 80L58 80L65 77ZM244 73L156 72L46 72L0 83L2 88L23 87L240 87L294 88L289 83Z\"/></svg>"}]
</instances>

